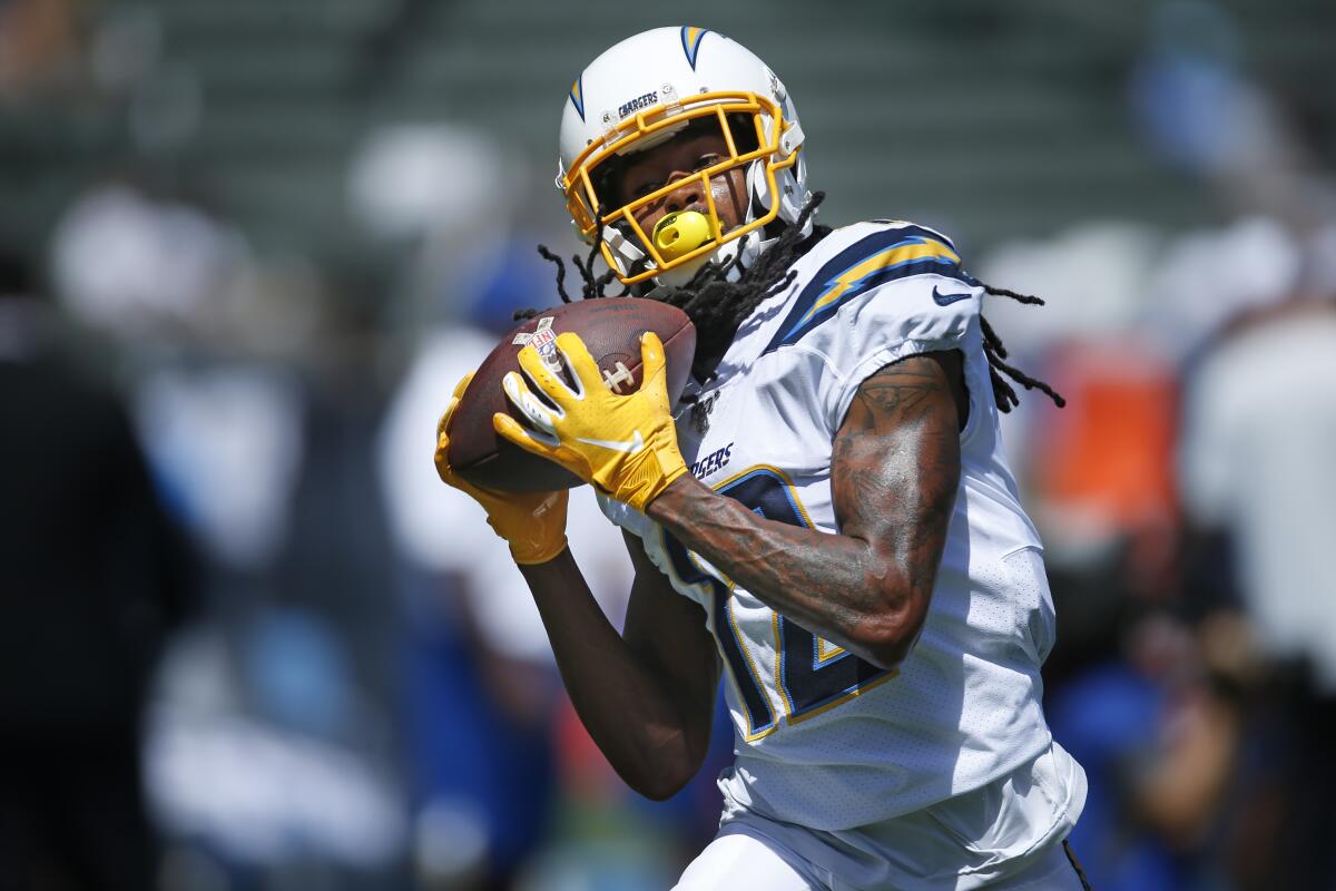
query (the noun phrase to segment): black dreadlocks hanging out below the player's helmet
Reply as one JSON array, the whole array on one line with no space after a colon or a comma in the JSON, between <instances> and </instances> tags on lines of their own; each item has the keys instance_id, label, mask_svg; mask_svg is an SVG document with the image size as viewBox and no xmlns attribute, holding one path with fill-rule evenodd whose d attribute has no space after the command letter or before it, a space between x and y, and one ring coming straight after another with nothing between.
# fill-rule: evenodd
<instances>
[{"instance_id":1,"label":"black dreadlocks hanging out below the player's helmet","mask_svg":"<svg viewBox=\"0 0 1336 891\"><path fill-rule=\"evenodd\" d=\"M739 251L728 263L705 263L685 285L677 287L664 286L655 291L653 299L676 306L696 326L696 361L692 366L692 374L697 379L705 381L713 377L711 371L713 363L724 354L728 345L732 343L733 335L737 334L737 327L743 321L760 303L788 287L798 275L798 273L790 269L794 262L831 232L830 226L818 224L812 227L811 235L802 238L803 227L824 199L826 192L812 192L798 220L792 226L784 226L770 250L764 251L749 269L741 266L741 252ZM596 218L601 215L600 211ZM604 291L617 275L611 269L603 275L596 277L593 274L593 262L599 255L599 246L601 243L603 227L600 226L599 231L595 232L593 247L591 247L588 258L581 259L578 255L570 258L576 269L580 270L580 277L584 281L580 293L582 299L607 297ZM570 295L565 289L565 263L560 256L548 250L546 244L538 244L538 254L556 264L557 294L562 302L569 303ZM733 269L741 269L741 274L736 281L727 281L728 274ZM995 297L1007 297L1019 303L1043 306L1043 301L1038 297L1018 294L1005 287L993 287L985 282L978 282L978 279L973 281ZM617 297L628 294L639 295L633 289L627 287ZM537 310L520 310L514 314L514 318L518 321L533 318L534 315L537 315ZM989 361L989 378L993 383L993 401L997 403L999 411L1010 411L1013 406L1021 403L1015 389L1007 383L1006 378L1002 377L1003 374L1026 390L1041 390L1059 409L1066 405L1066 399L1051 386L1006 362L1007 350L1002 345L1002 338L998 337L997 331L993 330L993 326L982 315L979 317L979 325L983 333L983 355ZM683 401L695 402L691 397L683 397Z\"/></svg>"}]
</instances>

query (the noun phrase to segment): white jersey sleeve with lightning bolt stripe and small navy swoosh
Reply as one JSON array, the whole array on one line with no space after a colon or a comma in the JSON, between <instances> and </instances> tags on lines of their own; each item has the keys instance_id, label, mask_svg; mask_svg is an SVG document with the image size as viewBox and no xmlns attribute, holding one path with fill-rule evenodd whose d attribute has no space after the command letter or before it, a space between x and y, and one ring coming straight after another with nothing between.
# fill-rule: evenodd
<instances>
[{"instance_id":1,"label":"white jersey sleeve with lightning bolt stripe and small navy swoosh","mask_svg":"<svg viewBox=\"0 0 1336 891\"><path fill-rule=\"evenodd\" d=\"M910 223L870 228L808 279L768 347L792 346L820 365L812 383L831 435L882 366L963 349L983 295L946 236Z\"/></svg>"}]
</instances>

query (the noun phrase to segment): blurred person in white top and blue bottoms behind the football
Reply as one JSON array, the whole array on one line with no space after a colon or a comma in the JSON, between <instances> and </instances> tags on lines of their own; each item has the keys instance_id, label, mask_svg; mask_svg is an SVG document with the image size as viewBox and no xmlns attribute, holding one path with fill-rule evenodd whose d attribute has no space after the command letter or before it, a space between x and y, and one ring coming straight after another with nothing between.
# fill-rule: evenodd
<instances>
[{"instance_id":1,"label":"blurred person in white top and blue bottoms behind the football","mask_svg":"<svg viewBox=\"0 0 1336 891\"><path fill-rule=\"evenodd\" d=\"M420 871L429 883L462 875L509 887L540 850L562 843L552 831L558 797L581 791L562 785L578 779L574 773L557 772L552 728L560 681L538 614L509 584L514 569L505 546L481 522L460 521L477 506L461 493L437 497L424 486L434 474L422 462L422 430L436 421L453 381L486 357L514 326L513 310L546 289L549 278L532 247L514 239L486 271L466 278L482 282L478 298L464 318L429 329L417 345L381 430L378 462L403 564ZM589 556L596 597L616 616L629 564L620 544L601 534L603 514L582 494L570 536ZM449 838L440 838L444 832Z\"/></svg>"}]
</instances>

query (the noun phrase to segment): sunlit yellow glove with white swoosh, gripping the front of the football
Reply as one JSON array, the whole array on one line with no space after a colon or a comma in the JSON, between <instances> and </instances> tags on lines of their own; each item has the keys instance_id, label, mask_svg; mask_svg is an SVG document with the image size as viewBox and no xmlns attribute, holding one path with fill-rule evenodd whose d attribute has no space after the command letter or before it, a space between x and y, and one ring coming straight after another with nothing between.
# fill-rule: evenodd
<instances>
[{"instance_id":1,"label":"sunlit yellow glove with white swoosh, gripping the front of the football","mask_svg":"<svg viewBox=\"0 0 1336 891\"><path fill-rule=\"evenodd\" d=\"M502 378L510 403L533 423L525 430L514 418L497 413L496 431L533 454L556 461L599 490L637 510L655 500L673 480L687 473L677 449L668 405L664 346L652 331L640 338L643 383L631 395L616 395L603 381L584 341L577 334L557 335L576 390L552 371L532 346L520 350L520 367L544 395L538 399L517 373Z\"/></svg>"}]
</instances>

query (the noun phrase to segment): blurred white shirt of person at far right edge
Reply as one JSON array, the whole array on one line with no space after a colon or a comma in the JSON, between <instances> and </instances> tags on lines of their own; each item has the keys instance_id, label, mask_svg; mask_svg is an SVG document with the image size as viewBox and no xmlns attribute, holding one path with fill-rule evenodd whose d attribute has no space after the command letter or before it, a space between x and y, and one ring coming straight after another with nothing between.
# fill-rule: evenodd
<instances>
[{"instance_id":1,"label":"blurred white shirt of person at far right edge","mask_svg":"<svg viewBox=\"0 0 1336 891\"><path fill-rule=\"evenodd\" d=\"M1182 496L1228 532L1242 605L1264 649L1307 659L1336 695L1336 301L1295 299L1237 319L1193 369Z\"/></svg>"}]
</instances>

